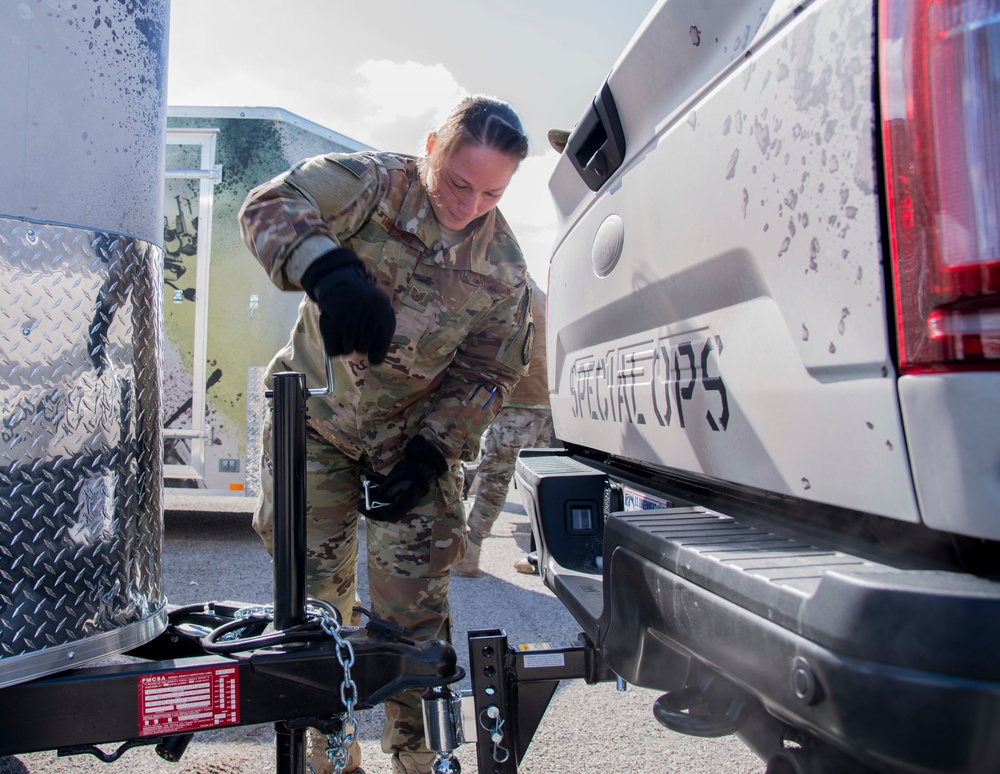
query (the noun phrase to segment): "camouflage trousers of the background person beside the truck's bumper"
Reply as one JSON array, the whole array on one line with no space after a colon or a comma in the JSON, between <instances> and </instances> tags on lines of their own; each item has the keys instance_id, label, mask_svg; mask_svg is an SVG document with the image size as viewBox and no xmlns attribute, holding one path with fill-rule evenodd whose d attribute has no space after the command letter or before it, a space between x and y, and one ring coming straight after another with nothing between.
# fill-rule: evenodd
<instances>
[{"instance_id":1,"label":"camouflage trousers of the background person beside the truck's bumper","mask_svg":"<svg viewBox=\"0 0 1000 774\"><path fill-rule=\"evenodd\" d=\"M522 448L551 446L552 412L545 408L504 406L483 439L476 473L476 500L469 513L469 539L482 545L507 502L517 453Z\"/></svg>"}]
</instances>

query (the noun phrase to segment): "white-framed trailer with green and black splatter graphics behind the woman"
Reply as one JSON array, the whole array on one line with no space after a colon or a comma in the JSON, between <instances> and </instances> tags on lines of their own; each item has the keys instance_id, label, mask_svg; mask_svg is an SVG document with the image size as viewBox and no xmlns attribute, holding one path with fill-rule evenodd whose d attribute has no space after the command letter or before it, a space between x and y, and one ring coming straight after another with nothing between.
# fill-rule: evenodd
<instances>
[{"instance_id":1,"label":"white-framed trailer with green and black splatter graphics behind the woman","mask_svg":"<svg viewBox=\"0 0 1000 774\"><path fill-rule=\"evenodd\" d=\"M298 161L369 146L266 107L170 107L166 141L166 508L245 510L259 484L261 375L302 297L271 284L237 212L251 188Z\"/></svg>"}]
</instances>

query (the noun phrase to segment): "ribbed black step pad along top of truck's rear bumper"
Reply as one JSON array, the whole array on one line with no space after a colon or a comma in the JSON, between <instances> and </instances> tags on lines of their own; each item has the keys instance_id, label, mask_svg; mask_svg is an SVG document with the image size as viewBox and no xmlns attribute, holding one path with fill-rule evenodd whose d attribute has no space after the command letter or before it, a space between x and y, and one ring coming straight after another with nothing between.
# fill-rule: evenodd
<instances>
[{"instance_id":1,"label":"ribbed black step pad along top of truck's rear bumper","mask_svg":"<svg viewBox=\"0 0 1000 774\"><path fill-rule=\"evenodd\" d=\"M995 581L899 569L699 507L613 513L605 566L618 550L841 655L1000 678L1000 660L983 647L1000 641Z\"/></svg>"}]
</instances>

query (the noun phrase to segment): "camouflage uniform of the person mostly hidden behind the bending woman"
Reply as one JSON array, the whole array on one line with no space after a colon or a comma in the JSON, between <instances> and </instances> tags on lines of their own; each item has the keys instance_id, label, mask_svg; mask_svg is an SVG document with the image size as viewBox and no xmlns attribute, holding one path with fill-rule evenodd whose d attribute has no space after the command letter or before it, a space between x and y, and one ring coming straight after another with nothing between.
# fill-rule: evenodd
<instances>
[{"instance_id":1,"label":"camouflage uniform of the person mostly hidden behind the bending woman","mask_svg":"<svg viewBox=\"0 0 1000 774\"><path fill-rule=\"evenodd\" d=\"M528 375L518 382L483 439L476 472L476 500L469 513L469 539L482 545L507 501L517 453L522 448L552 446L552 410L545 362L545 294L529 280L531 314L537 335ZM477 563L478 564L478 563Z\"/></svg>"}]
</instances>

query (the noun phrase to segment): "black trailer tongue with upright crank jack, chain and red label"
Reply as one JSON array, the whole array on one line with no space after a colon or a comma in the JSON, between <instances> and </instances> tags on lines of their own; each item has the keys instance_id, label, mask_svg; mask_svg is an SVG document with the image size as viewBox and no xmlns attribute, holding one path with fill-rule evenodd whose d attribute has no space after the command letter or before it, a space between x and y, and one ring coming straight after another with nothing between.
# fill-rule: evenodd
<instances>
[{"instance_id":1,"label":"black trailer tongue with upright crank jack, chain and red label","mask_svg":"<svg viewBox=\"0 0 1000 774\"><path fill-rule=\"evenodd\" d=\"M327 369L328 380L330 369ZM415 642L370 619L345 627L332 606L305 596L305 376L276 374L273 397L273 605L206 602L171 611L165 631L126 663L85 666L0 690L0 755L57 749L111 762L141 745L180 760L195 733L274 722L277 774L301 774L305 729L328 735L336 770L347 762L356 710L427 688L435 771L459 771L460 698L446 686L465 672L447 642ZM93 707L100 706L100 712ZM62 708L57 713L53 708ZM106 752L98 745L116 742Z\"/></svg>"}]
</instances>

